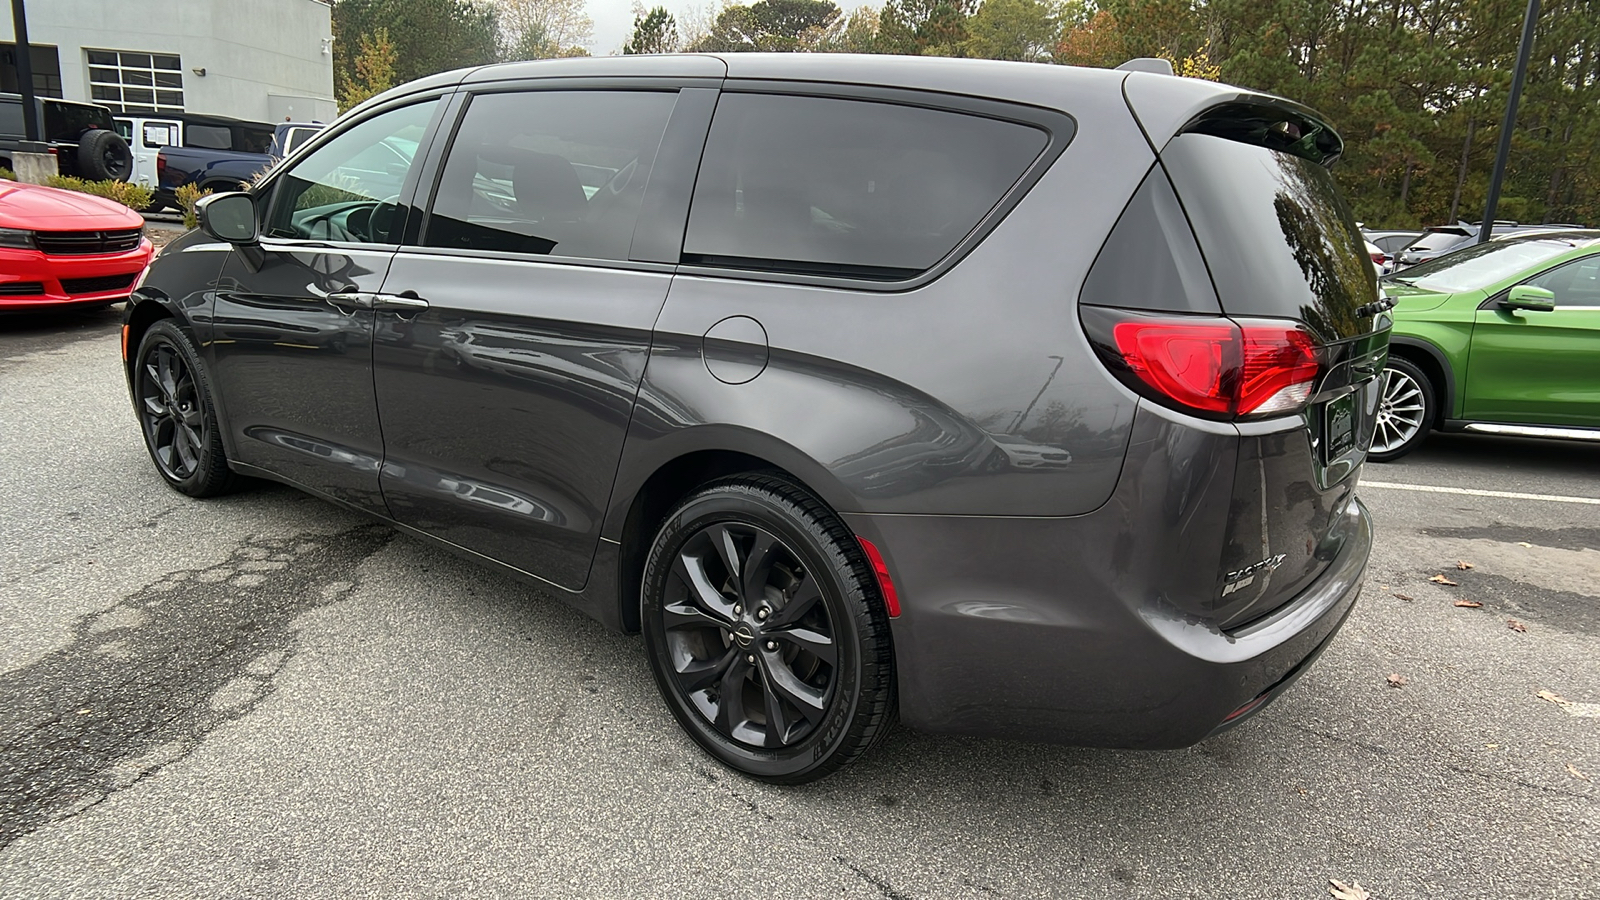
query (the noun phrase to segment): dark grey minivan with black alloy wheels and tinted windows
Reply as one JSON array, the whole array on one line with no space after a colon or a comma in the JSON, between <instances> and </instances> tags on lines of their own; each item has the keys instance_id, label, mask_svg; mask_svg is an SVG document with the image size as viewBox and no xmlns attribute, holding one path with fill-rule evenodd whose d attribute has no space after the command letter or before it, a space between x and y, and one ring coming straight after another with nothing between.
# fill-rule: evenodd
<instances>
[{"instance_id":1,"label":"dark grey minivan with black alloy wheels and tinted windows","mask_svg":"<svg viewBox=\"0 0 1600 900\"><path fill-rule=\"evenodd\" d=\"M642 631L722 762L899 721L1173 748L1328 644L1389 317L1293 102L728 54L490 66L203 200L126 317L155 468Z\"/></svg>"}]
</instances>

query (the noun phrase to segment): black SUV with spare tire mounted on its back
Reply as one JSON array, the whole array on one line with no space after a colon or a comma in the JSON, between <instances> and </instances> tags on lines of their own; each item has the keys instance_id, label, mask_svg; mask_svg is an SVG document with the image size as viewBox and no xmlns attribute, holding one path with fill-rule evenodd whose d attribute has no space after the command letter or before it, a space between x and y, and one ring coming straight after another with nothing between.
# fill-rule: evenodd
<instances>
[{"instance_id":1,"label":"black SUV with spare tire mounted on its back","mask_svg":"<svg viewBox=\"0 0 1600 900\"><path fill-rule=\"evenodd\" d=\"M133 173L133 151L117 133L112 114L104 106L70 99L34 98L42 143L56 157L61 175L90 181L128 181ZM0 167L13 168L11 154L26 141L22 96L0 94Z\"/></svg>"}]
</instances>

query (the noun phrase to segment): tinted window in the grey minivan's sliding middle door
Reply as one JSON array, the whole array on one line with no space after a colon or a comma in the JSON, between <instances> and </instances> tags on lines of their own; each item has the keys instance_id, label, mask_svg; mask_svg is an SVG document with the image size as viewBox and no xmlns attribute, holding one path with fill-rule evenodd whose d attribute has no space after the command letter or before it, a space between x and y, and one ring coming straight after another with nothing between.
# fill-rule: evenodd
<instances>
[{"instance_id":1,"label":"tinted window in the grey minivan's sliding middle door","mask_svg":"<svg viewBox=\"0 0 1600 900\"><path fill-rule=\"evenodd\" d=\"M627 259L675 91L472 98L422 243Z\"/></svg>"}]
</instances>

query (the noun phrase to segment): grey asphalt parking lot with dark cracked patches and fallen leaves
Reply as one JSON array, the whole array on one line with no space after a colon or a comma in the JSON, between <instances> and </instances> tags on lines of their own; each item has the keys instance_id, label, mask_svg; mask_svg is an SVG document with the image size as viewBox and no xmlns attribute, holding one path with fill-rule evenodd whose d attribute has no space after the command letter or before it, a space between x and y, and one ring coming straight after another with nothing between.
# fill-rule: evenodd
<instances>
[{"instance_id":1,"label":"grey asphalt parking lot with dark cracked patches and fallen leaves","mask_svg":"<svg viewBox=\"0 0 1600 900\"><path fill-rule=\"evenodd\" d=\"M1362 602L1230 733L899 729L773 788L536 589L288 488L166 490L118 323L0 320L6 897L1600 895L1600 447L1368 466Z\"/></svg>"}]
</instances>

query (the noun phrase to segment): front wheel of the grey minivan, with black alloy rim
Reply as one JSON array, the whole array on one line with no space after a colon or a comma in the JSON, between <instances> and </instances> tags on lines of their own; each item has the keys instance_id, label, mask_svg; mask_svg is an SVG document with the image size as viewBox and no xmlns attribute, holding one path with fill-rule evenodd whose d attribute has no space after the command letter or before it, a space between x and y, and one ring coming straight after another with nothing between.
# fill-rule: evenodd
<instances>
[{"instance_id":1,"label":"front wheel of the grey minivan, with black alloy rim","mask_svg":"<svg viewBox=\"0 0 1600 900\"><path fill-rule=\"evenodd\" d=\"M150 325L133 368L144 447L166 484L190 496L230 490L211 386L189 336L170 319Z\"/></svg>"}]
</instances>

